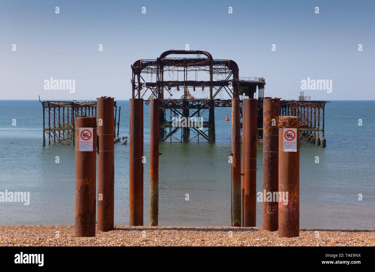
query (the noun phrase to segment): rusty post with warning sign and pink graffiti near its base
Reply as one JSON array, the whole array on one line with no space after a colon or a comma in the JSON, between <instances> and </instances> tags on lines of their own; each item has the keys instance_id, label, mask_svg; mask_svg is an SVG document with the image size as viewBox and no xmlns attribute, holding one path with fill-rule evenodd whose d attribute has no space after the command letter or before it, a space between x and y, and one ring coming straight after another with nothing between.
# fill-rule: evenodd
<instances>
[{"instance_id":1,"label":"rusty post with warning sign and pink graffiti near its base","mask_svg":"<svg viewBox=\"0 0 375 272\"><path fill-rule=\"evenodd\" d=\"M289 120L289 122L288 122ZM284 127L296 128L298 117L279 117ZM283 151L283 127L279 127L279 237L298 237L300 219L300 130L297 128L297 152ZM285 192L285 200L280 194ZM286 193L288 192L288 197Z\"/></svg>"}]
</instances>

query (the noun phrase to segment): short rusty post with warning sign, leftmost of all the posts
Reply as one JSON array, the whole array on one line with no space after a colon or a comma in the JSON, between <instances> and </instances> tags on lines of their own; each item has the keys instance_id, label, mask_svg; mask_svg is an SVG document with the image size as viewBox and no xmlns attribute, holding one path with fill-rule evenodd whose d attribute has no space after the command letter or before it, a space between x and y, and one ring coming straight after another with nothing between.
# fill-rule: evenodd
<instances>
[{"instance_id":1,"label":"short rusty post with warning sign, leftmost of all the posts","mask_svg":"<svg viewBox=\"0 0 375 272\"><path fill-rule=\"evenodd\" d=\"M79 151L80 127L92 127L93 151ZM95 236L96 117L75 118L75 237Z\"/></svg>"}]
</instances>

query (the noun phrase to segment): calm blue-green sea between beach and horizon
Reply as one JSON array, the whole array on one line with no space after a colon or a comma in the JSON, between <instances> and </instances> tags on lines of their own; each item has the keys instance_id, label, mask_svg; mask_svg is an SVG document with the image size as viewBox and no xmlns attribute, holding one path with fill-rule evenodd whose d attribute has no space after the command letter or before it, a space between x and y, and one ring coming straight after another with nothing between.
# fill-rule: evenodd
<instances>
[{"instance_id":1,"label":"calm blue-green sea between beach and horizon","mask_svg":"<svg viewBox=\"0 0 375 272\"><path fill-rule=\"evenodd\" d=\"M127 136L129 101L117 102L120 136ZM144 106L144 225L149 112ZM226 112L230 117L230 108L215 109L214 144L160 143L159 225L230 226L231 122L224 121ZM375 101L326 104L327 148L300 150L301 228L375 229L374 115ZM29 205L0 202L0 225L74 224L74 160L73 146L42 146L39 101L0 101L0 191L30 192ZM257 168L257 191L262 191L262 146ZM116 225L129 224L129 145L120 143L115 144L114 212ZM257 203L257 226L262 226L262 203Z\"/></svg>"}]
</instances>

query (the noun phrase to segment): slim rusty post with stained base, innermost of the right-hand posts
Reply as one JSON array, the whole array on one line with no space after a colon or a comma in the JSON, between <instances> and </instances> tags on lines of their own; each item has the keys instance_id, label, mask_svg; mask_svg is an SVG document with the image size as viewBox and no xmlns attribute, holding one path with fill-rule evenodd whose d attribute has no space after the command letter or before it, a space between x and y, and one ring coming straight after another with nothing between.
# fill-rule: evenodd
<instances>
[{"instance_id":1,"label":"slim rusty post with stained base, innermost of the right-hand posts","mask_svg":"<svg viewBox=\"0 0 375 272\"><path fill-rule=\"evenodd\" d=\"M232 99L232 226L241 226L240 99Z\"/></svg>"}]
</instances>

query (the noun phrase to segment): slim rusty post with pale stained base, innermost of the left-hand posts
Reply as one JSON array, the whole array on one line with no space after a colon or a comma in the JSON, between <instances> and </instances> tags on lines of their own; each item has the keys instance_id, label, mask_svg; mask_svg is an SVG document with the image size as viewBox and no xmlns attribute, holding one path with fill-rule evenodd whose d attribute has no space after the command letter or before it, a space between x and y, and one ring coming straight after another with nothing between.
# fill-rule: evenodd
<instances>
[{"instance_id":1,"label":"slim rusty post with pale stained base, innermost of the left-hand posts","mask_svg":"<svg viewBox=\"0 0 375 272\"><path fill-rule=\"evenodd\" d=\"M150 110L150 226L159 216L159 99L151 99Z\"/></svg>"}]
</instances>

